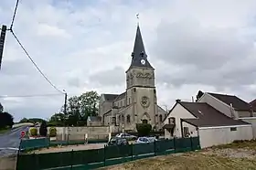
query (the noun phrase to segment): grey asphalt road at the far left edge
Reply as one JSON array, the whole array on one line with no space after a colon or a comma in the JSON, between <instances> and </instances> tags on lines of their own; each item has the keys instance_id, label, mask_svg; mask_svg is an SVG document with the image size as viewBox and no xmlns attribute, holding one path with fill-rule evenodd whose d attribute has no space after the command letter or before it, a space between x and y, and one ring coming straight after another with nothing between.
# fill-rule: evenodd
<instances>
[{"instance_id":1,"label":"grey asphalt road at the far left edge","mask_svg":"<svg viewBox=\"0 0 256 170\"><path fill-rule=\"evenodd\" d=\"M10 132L0 135L0 156L17 153L22 131L27 131L27 126L12 129Z\"/></svg>"}]
</instances>

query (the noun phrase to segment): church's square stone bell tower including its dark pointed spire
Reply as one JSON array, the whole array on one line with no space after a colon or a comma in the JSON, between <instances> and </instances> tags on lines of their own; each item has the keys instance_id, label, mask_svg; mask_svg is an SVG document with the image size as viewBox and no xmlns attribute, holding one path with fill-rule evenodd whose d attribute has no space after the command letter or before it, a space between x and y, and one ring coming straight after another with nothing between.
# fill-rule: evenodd
<instances>
[{"instance_id":1,"label":"church's square stone bell tower including its dark pointed spire","mask_svg":"<svg viewBox=\"0 0 256 170\"><path fill-rule=\"evenodd\" d=\"M132 62L126 73L127 104L131 105L134 123L157 123L155 69L144 49L140 27L137 26Z\"/></svg>"}]
</instances>

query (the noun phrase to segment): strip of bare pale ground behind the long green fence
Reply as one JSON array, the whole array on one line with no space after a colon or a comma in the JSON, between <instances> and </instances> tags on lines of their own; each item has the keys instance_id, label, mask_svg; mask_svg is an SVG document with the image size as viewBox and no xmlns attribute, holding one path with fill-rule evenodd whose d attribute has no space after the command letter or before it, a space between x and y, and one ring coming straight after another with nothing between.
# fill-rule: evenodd
<instances>
[{"instance_id":1,"label":"strip of bare pale ground behind the long green fence","mask_svg":"<svg viewBox=\"0 0 256 170\"><path fill-rule=\"evenodd\" d=\"M80 151L80 150L89 150L89 149L100 149L104 147L104 144L106 143L91 143L91 144L49 147L49 148L42 148L39 150L31 151L31 152L28 152L27 154L59 153L59 152L67 152L72 150Z\"/></svg>"}]
</instances>

